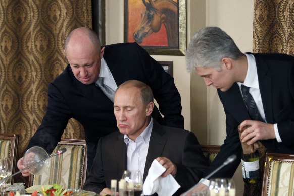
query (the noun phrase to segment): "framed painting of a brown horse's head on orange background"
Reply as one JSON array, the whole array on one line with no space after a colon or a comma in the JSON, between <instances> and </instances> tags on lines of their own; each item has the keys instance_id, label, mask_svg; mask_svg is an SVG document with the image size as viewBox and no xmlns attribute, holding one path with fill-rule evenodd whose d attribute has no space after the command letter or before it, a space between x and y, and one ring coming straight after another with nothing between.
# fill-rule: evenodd
<instances>
[{"instance_id":1,"label":"framed painting of a brown horse's head on orange background","mask_svg":"<svg viewBox=\"0 0 294 196\"><path fill-rule=\"evenodd\" d=\"M124 42L149 54L185 55L186 0L124 0Z\"/></svg>"}]
</instances>

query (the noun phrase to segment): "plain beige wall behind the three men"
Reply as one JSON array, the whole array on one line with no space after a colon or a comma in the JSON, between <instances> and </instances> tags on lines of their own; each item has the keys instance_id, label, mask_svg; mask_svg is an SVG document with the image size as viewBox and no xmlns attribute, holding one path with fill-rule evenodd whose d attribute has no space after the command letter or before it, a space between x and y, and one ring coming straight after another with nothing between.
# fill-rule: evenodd
<instances>
[{"instance_id":1,"label":"plain beige wall behind the three men","mask_svg":"<svg viewBox=\"0 0 294 196\"><path fill-rule=\"evenodd\" d=\"M124 1L106 1L106 44L123 42ZM187 0L187 41L203 26L226 31L243 52L252 51L252 0ZM173 76L182 98L185 129L197 134L202 144L222 144L225 115L216 90L185 69L184 56L152 55L156 60L173 61ZM192 120L191 120L192 119Z\"/></svg>"}]
</instances>

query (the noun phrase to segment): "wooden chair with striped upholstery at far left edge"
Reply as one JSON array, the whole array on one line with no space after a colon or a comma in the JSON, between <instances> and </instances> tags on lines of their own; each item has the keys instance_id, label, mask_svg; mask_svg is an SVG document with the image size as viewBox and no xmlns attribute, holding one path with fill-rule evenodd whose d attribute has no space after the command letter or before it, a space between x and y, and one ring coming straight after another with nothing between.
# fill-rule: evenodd
<instances>
[{"instance_id":1,"label":"wooden chair with striped upholstery at far left edge","mask_svg":"<svg viewBox=\"0 0 294 196\"><path fill-rule=\"evenodd\" d=\"M17 134L0 134L0 158L10 158L12 173L15 173L17 149ZM14 177L12 177L11 183L13 180Z\"/></svg>"}]
</instances>

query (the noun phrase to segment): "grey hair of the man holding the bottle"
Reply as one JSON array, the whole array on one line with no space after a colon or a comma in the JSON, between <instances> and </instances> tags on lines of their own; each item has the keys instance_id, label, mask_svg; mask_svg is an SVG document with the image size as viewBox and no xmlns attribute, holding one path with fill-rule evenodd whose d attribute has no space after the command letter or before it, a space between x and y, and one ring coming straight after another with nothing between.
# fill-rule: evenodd
<instances>
[{"instance_id":1,"label":"grey hair of the man holding the bottle","mask_svg":"<svg viewBox=\"0 0 294 196\"><path fill-rule=\"evenodd\" d=\"M188 72L195 67L214 67L221 71L221 59L239 59L244 54L233 39L218 27L204 27L191 39L186 52Z\"/></svg>"}]
</instances>

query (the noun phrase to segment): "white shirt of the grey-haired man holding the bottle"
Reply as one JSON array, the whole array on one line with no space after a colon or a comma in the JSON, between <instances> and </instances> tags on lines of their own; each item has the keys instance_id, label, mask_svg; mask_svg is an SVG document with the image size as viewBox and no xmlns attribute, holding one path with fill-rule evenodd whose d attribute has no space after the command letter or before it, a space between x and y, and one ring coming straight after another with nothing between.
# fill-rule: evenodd
<instances>
[{"instance_id":1,"label":"white shirt of the grey-haired man holding the bottle","mask_svg":"<svg viewBox=\"0 0 294 196\"><path fill-rule=\"evenodd\" d=\"M248 70L247 70L246 78L244 80L244 83L237 82L237 84L239 85L239 89L242 96L243 94L241 91L241 85L243 84L247 87L250 87L249 93L252 95L262 119L266 122L265 113L264 113L263 104L262 104L261 95L260 95L259 83L258 83L256 61L255 61L254 55L252 54L245 54L245 55L247 57L247 62L248 62ZM274 124L274 130L275 130L277 141L282 142L278 132L277 124Z\"/></svg>"}]
</instances>

